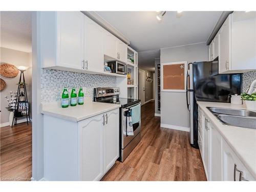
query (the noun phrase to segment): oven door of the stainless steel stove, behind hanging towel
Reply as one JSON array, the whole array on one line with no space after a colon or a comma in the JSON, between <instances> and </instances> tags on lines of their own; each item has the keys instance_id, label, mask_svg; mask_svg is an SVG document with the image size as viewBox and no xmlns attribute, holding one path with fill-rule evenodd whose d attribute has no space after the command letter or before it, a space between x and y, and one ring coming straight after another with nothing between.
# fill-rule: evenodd
<instances>
[{"instance_id":1,"label":"oven door of the stainless steel stove, behind hanging towel","mask_svg":"<svg viewBox=\"0 0 256 192\"><path fill-rule=\"evenodd\" d=\"M134 104L129 106L131 108L132 106L140 105L140 103ZM138 123L133 124L133 132L134 135L127 136L126 130L127 130L127 111L129 108L121 108L121 148L123 149L127 144L129 144L133 138L136 137L140 133L140 125L141 125L141 117L140 121Z\"/></svg>"}]
</instances>

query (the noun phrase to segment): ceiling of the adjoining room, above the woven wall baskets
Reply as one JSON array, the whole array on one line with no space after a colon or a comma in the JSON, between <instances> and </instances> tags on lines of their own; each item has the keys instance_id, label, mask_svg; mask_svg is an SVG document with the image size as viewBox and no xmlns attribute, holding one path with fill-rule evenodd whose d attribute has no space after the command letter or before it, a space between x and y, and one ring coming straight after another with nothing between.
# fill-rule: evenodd
<instances>
[{"instance_id":1,"label":"ceiling of the adjoining room, above the woven wall baskets","mask_svg":"<svg viewBox=\"0 0 256 192\"><path fill-rule=\"evenodd\" d=\"M32 52L31 12L1 11L1 47Z\"/></svg>"}]
</instances>

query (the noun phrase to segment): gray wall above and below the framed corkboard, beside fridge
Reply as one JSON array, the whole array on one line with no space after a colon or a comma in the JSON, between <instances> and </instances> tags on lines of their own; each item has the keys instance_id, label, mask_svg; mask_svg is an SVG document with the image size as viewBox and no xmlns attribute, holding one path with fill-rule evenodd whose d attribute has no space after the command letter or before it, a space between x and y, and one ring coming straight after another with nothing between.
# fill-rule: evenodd
<instances>
[{"instance_id":1,"label":"gray wall above and below the framed corkboard, beside fridge","mask_svg":"<svg viewBox=\"0 0 256 192\"><path fill-rule=\"evenodd\" d=\"M206 43L161 49L161 63L176 61L206 61L208 47ZM186 106L185 92L161 92L161 123L189 127L189 112Z\"/></svg>"}]
</instances>

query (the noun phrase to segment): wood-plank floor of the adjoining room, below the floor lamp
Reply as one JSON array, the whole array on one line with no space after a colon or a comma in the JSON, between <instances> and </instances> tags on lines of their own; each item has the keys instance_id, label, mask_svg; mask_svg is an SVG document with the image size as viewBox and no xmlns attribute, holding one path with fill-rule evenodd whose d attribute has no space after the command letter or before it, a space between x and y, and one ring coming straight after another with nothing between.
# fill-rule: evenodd
<instances>
[{"instance_id":1,"label":"wood-plank floor of the adjoining room, below the floor lamp","mask_svg":"<svg viewBox=\"0 0 256 192\"><path fill-rule=\"evenodd\" d=\"M0 128L0 181L30 181L32 123Z\"/></svg>"}]
</instances>

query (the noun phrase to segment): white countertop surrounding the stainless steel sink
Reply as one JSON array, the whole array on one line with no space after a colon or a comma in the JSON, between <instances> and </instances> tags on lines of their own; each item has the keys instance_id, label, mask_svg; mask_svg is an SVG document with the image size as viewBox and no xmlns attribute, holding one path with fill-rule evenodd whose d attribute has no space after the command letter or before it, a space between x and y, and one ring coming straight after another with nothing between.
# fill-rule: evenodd
<instances>
[{"instance_id":1,"label":"white countertop surrounding the stainless steel sink","mask_svg":"<svg viewBox=\"0 0 256 192\"><path fill-rule=\"evenodd\" d=\"M241 162L246 166L251 175L256 178L256 130L221 123L206 107L245 109L244 105L218 102L197 102L211 123L216 126L219 133L230 145Z\"/></svg>"}]
</instances>

